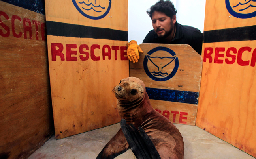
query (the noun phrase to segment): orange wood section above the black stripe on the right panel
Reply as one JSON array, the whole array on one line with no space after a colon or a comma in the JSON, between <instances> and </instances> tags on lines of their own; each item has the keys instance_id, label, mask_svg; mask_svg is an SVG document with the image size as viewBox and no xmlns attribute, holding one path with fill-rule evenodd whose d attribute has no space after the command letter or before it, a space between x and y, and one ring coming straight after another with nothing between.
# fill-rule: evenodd
<instances>
[{"instance_id":1,"label":"orange wood section above the black stripe on the right panel","mask_svg":"<svg viewBox=\"0 0 256 159\"><path fill-rule=\"evenodd\" d=\"M243 5L238 5L239 2ZM252 0L206 0L204 31L255 25L255 7L249 7L255 6L253 3Z\"/></svg>"}]
</instances>

